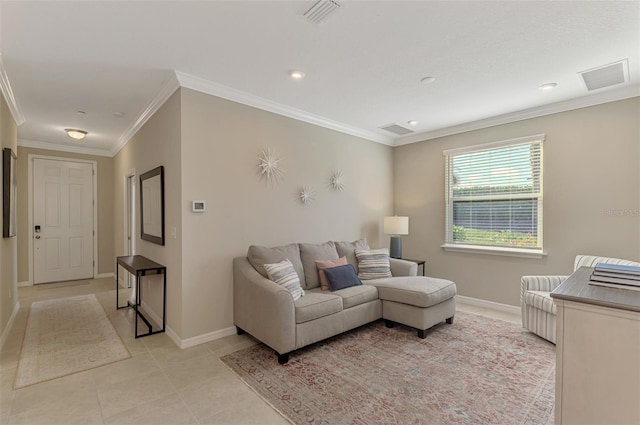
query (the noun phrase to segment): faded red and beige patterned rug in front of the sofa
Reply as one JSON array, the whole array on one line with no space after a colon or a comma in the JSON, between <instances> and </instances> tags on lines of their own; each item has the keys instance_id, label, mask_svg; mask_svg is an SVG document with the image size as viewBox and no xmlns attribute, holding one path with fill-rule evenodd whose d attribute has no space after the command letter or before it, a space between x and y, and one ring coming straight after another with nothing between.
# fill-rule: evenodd
<instances>
[{"instance_id":1,"label":"faded red and beige patterned rug in front of the sofa","mask_svg":"<svg viewBox=\"0 0 640 425\"><path fill-rule=\"evenodd\" d=\"M263 344L222 361L296 424L553 424L555 346L470 313L424 340L377 321L286 365Z\"/></svg>"}]
</instances>

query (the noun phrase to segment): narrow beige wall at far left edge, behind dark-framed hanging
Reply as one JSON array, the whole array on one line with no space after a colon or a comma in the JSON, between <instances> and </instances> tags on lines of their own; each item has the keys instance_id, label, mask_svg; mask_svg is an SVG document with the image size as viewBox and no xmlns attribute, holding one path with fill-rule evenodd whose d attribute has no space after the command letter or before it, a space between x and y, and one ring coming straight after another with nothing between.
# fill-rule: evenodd
<instances>
[{"instance_id":1,"label":"narrow beige wall at far left edge, behind dark-framed hanging","mask_svg":"<svg viewBox=\"0 0 640 425\"><path fill-rule=\"evenodd\" d=\"M17 152L18 128L7 106L7 102L1 93L0 142L2 149L11 148L14 153ZM16 168L18 170L20 169L19 166ZM2 181L2 178L0 178L0 181ZM18 182L18 192L20 190L21 184ZM0 196L0 210L2 209L3 202L3 196ZM18 222L22 221L20 215L18 215L16 219ZM18 229L16 233L19 234L19 231ZM15 306L18 304L18 245L16 239L15 237L0 239L0 335L2 335L3 342L6 336L5 332L8 331L7 325L9 324Z\"/></svg>"}]
</instances>

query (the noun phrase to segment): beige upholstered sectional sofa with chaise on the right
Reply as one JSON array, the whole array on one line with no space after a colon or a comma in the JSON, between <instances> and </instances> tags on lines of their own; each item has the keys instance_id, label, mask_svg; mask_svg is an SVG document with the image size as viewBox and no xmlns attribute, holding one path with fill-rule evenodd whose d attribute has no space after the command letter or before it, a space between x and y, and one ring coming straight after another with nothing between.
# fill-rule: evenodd
<instances>
[{"instance_id":1,"label":"beige upholstered sectional sofa with chaise on the right","mask_svg":"<svg viewBox=\"0 0 640 425\"><path fill-rule=\"evenodd\" d=\"M416 276L417 264L389 259L392 277L363 280L363 285L334 292L320 289L316 260L346 257L358 270L355 250L368 250L365 240L294 243L280 247L251 246L246 257L233 260L234 324L274 349L278 361L306 345L384 318L425 330L442 321L453 323L456 286L444 279ZM305 295L294 300L282 285L268 279L265 264L288 259Z\"/></svg>"}]
</instances>

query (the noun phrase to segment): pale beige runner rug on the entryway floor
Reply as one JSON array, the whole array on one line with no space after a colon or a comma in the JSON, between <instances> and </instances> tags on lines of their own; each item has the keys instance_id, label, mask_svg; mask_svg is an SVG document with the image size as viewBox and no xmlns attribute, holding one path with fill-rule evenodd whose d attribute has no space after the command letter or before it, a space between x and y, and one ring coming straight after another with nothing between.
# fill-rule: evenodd
<instances>
[{"instance_id":1,"label":"pale beige runner rug on the entryway floor","mask_svg":"<svg viewBox=\"0 0 640 425\"><path fill-rule=\"evenodd\" d=\"M95 295L31 304L14 389L131 357Z\"/></svg>"}]
</instances>

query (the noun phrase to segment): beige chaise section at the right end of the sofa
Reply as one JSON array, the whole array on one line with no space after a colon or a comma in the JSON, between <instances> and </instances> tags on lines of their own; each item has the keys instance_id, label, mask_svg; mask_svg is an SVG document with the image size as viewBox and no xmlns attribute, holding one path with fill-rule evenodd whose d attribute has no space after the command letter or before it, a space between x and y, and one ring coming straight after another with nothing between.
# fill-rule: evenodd
<instances>
[{"instance_id":1,"label":"beige chaise section at the right end of the sofa","mask_svg":"<svg viewBox=\"0 0 640 425\"><path fill-rule=\"evenodd\" d=\"M453 323L456 313L456 284L434 277L411 276L402 279L376 279L367 282L378 288L382 300L382 318L387 327L397 323L418 330L420 338L426 330L446 321Z\"/></svg>"}]
</instances>

